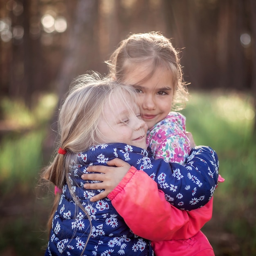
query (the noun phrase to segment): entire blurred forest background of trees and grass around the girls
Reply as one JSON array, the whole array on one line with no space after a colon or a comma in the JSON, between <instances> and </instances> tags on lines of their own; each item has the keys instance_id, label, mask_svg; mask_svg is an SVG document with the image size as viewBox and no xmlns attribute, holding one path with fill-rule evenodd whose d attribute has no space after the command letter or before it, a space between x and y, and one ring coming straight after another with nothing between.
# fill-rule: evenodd
<instances>
[{"instance_id":1,"label":"entire blurred forest background of trees and grass around the girls","mask_svg":"<svg viewBox=\"0 0 256 256\"><path fill-rule=\"evenodd\" d=\"M203 231L216 256L256 255L255 0L0 1L0 255L43 255L58 106L76 76L130 33L161 31L180 50L195 142L226 181Z\"/></svg>"}]
</instances>

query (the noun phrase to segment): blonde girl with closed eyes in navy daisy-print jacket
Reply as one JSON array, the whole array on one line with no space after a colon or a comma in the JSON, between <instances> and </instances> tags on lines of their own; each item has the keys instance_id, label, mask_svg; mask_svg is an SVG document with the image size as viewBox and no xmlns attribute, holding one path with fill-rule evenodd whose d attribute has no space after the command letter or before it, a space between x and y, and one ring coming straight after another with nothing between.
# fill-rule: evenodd
<instances>
[{"instance_id":1,"label":"blonde girl with closed eyes in navy daisy-print jacket","mask_svg":"<svg viewBox=\"0 0 256 256\"><path fill-rule=\"evenodd\" d=\"M136 179L138 173L158 178L158 184L149 178L154 187L153 200L157 186L171 197L184 186L197 186L197 181L202 183L198 195L207 194L198 204L205 204L212 196L218 179L216 153L209 147L194 148L191 160L184 166L148 157L147 126L135 99L132 87L96 75L79 77L65 99L58 120L60 148L43 173L45 179L61 190L53 208L45 255L153 255L150 242L132 233L108 198L90 202L101 190L83 189L81 175L87 173L88 166L106 166L108 161L119 165L115 158L123 159L126 171L120 176L126 175L127 183ZM127 173L130 165L135 168ZM177 168L189 173L189 177L173 177ZM202 174L197 168L208 169L213 175ZM190 204L193 208L193 203ZM173 231L190 229L186 212L172 209Z\"/></svg>"}]
</instances>

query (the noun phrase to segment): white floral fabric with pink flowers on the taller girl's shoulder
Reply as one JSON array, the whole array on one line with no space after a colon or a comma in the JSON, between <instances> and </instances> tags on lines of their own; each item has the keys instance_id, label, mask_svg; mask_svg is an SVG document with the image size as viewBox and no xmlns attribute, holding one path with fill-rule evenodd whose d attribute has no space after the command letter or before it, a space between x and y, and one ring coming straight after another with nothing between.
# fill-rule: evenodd
<instances>
[{"instance_id":1,"label":"white floral fabric with pink flowers on the taller girl's shoulder","mask_svg":"<svg viewBox=\"0 0 256 256\"><path fill-rule=\"evenodd\" d=\"M148 130L147 146L155 159L184 164L191 150L186 136L186 118L177 112L170 112L167 117Z\"/></svg>"}]
</instances>

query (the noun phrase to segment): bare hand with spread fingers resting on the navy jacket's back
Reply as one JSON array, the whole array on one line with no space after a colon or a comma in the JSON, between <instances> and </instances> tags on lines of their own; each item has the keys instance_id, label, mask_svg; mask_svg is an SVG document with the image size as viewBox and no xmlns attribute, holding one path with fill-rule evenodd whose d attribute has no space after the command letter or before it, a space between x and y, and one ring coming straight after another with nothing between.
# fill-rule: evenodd
<instances>
[{"instance_id":1,"label":"bare hand with spread fingers resting on the navy jacket's back","mask_svg":"<svg viewBox=\"0 0 256 256\"><path fill-rule=\"evenodd\" d=\"M121 182L123 177L130 169L130 164L124 162L119 158L115 158L111 161L108 161L107 164L109 166L103 165L95 165L88 166L88 172L97 172L97 173L89 173L83 174L81 177L83 180L99 180L101 182L98 183L85 183L85 189L105 189L105 191L99 193L98 195L94 195L90 198L91 202L95 202L102 198L106 198L108 194L115 189L115 187ZM112 167L116 166L116 167Z\"/></svg>"}]
</instances>

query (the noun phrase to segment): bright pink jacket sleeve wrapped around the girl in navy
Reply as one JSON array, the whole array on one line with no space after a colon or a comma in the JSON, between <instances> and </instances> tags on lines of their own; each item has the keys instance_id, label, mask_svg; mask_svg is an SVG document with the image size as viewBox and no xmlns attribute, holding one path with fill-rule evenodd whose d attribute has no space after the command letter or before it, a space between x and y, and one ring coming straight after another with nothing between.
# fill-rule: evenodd
<instances>
[{"instance_id":1,"label":"bright pink jacket sleeve wrapped around the girl in navy","mask_svg":"<svg viewBox=\"0 0 256 256\"><path fill-rule=\"evenodd\" d=\"M190 238L212 216L212 199L200 209L179 210L165 200L154 180L133 166L108 198L132 232L148 240Z\"/></svg>"}]
</instances>

